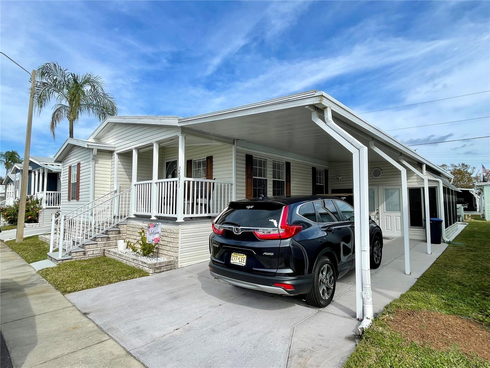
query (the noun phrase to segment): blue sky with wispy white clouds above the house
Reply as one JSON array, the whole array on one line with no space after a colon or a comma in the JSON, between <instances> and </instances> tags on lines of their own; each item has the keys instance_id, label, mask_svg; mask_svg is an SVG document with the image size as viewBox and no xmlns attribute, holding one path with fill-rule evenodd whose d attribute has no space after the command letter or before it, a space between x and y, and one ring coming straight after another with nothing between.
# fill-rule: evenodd
<instances>
[{"instance_id":1,"label":"blue sky with wispy white clouds above the house","mask_svg":"<svg viewBox=\"0 0 490 368\"><path fill-rule=\"evenodd\" d=\"M308 89L357 112L490 90L488 1L1 1L0 49L106 82L120 115L191 116ZM0 150L24 152L28 76L0 58ZM490 94L362 115L388 130L490 116ZM31 155L68 136L33 119ZM98 121L84 117L75 137ZM392 131L408 144L490 135L490 119ZM414 147L416 148L416 147ZM419 146L490 166L490 139ZM0 169L4 175L4 168Z\"/></svg>"}]
</instances>

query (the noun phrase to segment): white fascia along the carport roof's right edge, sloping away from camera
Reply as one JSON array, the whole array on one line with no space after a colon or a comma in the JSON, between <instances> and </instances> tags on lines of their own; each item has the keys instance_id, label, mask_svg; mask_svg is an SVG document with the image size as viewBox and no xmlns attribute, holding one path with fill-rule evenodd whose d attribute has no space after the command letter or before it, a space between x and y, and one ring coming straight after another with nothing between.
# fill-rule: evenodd
<instances>
[{"instance_id":1,"label":"white fascia along the carport roof's right edge, sloping away from camera","mask_svg":"<svg viewBox=\"0 0 490 368\"><path fill-rule=\"evenodd\" d=\"M424 158L417 154L414 150L411 148L405 146L403 143L399 142L395 138L393 138L391 135L387 134L383 130L379 129L378 127L368 123L366 120L361 118L359 115L357 115L354 111L352 111L350 108L347 106L341 104L339 101L335 100L333 97L327 95L324 92L320 92L322 95L323 99L320 101L320 105L323 107L330 107L332 108L332 111L335 111L339 115L347 118L350 120L352 123L360 126L361 128L364 128L365 130L369 131L369 133L372 134L372 138L376 138L378 140L381 140L385 142L385 144L388 144L392 146L393 148L397 149L400 151L400 153L405 153L406 155L410 156L412 159L416 159L417 161L423 162L426 165L434 168L436 171L439 171L442 175L448 177L449 179L454 178L451 174L448 172L444 171L436 165L435 163L429 161L427 158ZM347 122L348 123L348 122Z\"/></svg>"}]
</instances>

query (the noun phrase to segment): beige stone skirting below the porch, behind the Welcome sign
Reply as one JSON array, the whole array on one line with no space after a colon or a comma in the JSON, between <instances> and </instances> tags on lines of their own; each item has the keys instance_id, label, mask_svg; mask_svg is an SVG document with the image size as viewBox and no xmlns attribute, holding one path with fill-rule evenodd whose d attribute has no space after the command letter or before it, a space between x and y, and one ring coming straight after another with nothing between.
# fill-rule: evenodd
<instances>
[{"instance_id":1,"label":"beige stone skirting below the porch, behind the Welcome sign","mask_svg":"<svg viewBox=\"0 0 490 368\"><path fill-rule=\"evenodd\" d=\"M127 220L126 224L126 240L131 243L136 243L140 240L138 234L141 228L146 228L148 222L155 223L157 221L138 221ZM179 227L178 225L162 224L161 240L155 251L157 257L165 257L172 259L175 263L178 262L179 257Z\"/></svg>"}]
</instances>

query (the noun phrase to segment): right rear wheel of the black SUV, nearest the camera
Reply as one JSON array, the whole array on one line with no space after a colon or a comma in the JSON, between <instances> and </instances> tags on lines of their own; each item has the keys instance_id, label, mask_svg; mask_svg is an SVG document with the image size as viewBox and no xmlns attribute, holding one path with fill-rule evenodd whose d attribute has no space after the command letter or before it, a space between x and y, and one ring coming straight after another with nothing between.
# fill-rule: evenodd
<instances>
[{"instance_id":1,"label":"right rear wheel of the black SUV, nearest the camera","mask_svg":"<svg viewBox=\"0 0 490 368\"><path fill-rule=\"evenodd\" d=\"M323 276L320 276L320 272ZM325 276L327 276L328 279ZM320 285L322 285L321 289ZM334 298L336 285L337 269L335 263L333 263L328 256L323 256L319 259L315 267L313 285L310 292L306 294L306 302L315 307L326 307Z\"/></svg>"}]
</instances>

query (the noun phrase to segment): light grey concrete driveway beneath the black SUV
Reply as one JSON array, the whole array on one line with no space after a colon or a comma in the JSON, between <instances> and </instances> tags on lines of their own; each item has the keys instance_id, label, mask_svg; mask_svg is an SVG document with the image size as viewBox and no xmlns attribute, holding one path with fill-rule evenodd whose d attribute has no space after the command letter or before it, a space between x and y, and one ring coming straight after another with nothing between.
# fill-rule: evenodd
<instances>
[{"instance_id":1,"label":"light grey concrete driveway beneath the black SUV","mask_svg":"<svg viewBox=\"0 0 490 368\"><path fill-rule=\"evenodd\" d=\"M409 289L446 245L385 240L373 270L374 312ZM212 278L207 262L67 295L147 367L340 367L355 347L355 272L335 300L311 308L299 297L241 289Z\"/></svg>"}]
</instances>

